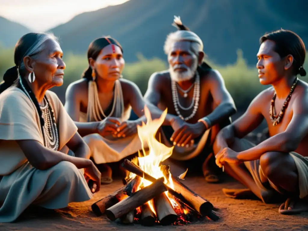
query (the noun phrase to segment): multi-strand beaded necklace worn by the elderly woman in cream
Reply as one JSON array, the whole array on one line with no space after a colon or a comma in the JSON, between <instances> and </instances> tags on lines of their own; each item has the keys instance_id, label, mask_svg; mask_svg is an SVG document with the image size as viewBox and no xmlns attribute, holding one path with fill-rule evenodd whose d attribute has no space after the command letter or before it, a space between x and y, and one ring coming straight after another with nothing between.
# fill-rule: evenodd
<instances>
[{"instance_id":1,"label":"multi-strand beaded necklace worn by the elderly woman in cream","mask_svg":"<svg viewBox=\"0 0 308 231\"><path fill-rule=\"evenodd\" d=\"M26 91L25 86L23 86L21 77L19 76L19 83L23 89L23 91L26 93L26 95L28 96L28 98L32 101L32 103L34 104L33 100L31 99L29 93ZM43 119L44 119L44 126L43 126L43 137L44 137L44 143L45 143L45 147L46 148L50 148L52 150L57 151L59 148L59 135L58 135L58 129L57 129L57 124L56 124L56 120L55 120L55 113L54 110L51 107L50 101L47 97L47 95L45 95L44 97L44 106L40 106L40 109L42 110L42 114L43 114Z\"/></svg>"}]
</instances>

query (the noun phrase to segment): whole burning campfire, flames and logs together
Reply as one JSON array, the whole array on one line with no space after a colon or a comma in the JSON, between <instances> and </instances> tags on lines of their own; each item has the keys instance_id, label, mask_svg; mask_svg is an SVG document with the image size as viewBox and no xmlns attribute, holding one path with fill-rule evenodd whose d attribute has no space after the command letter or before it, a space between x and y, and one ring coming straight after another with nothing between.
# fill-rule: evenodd
<instances>
[{"instance_id":1,"label":"whole burning campfire, flames and logs together","mask_svg":"<svg viewBox=\"0 0 308 231\"><path fill-rule=\"evenodd\" d=\"M212 211L213 205L180 182L187 171L174 177L169 172L169 166L160 165L173 150L173 147L167 147L155 138L167 110L155 120L152 120L147 107L144 112L147 124L138 126L142 153L132 161L124 160L122 167L129 172L123 180L124 186L95 202L91 206L93 212L97 216L106 214L111 221L119 218L124 224L147 226L183 225L202 217L218 220Z\"/></svg>"}]
</instances>

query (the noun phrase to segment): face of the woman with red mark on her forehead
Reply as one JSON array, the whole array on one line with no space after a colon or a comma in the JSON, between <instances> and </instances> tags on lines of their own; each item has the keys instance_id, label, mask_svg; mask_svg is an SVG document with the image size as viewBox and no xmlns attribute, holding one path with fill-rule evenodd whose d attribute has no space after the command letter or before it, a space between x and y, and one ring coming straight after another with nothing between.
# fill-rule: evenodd
<instances>
[{"instance_id":1,"label":"face of the woman with red mark on her forehead","mask_svg":"<svg viewBox=\"0 0 308 231\"><path fill-rule=\"evenodd\" d=\"M110 44L104 47L94 63L100 78L115 81L120 78L125 61L120 47Z\"/></svg>"}]
</instances>

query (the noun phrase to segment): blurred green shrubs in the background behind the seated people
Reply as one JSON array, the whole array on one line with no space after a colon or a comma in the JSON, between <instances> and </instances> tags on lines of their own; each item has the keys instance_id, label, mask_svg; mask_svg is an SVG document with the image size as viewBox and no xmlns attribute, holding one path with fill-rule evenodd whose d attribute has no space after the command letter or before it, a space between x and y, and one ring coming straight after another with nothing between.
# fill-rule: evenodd
<instances>
[{"instance_id":1,"label":"blurred green shrubs in the background behind the seated people","mask_svg":"<svg viewBox=\"0 0 308 231\"><path fill-rule=\"evenodd\" d=\"M0 47L1 76L3 76L8 68L14 65L13 53L14 49ZM166 60L158 58L146 59L141 54L137 56L137 62L125 64L123 76L135 82L144 94L148 87L148 79L152 73L166 70L168 68L168 63ZM64 102L67 86L71 82L81 78L83 71L88 67L88 62L86 55L73 55L72 53L65 54L63 59L66 63L64 84L62 87L53 88L52 90L55 91ZM241 50L237 51L237 61L234 64L222 66L212 63L210 60L207 60L207 62L213 68L217 69L225 79L226 87L232 95L238 110L245 110L251 100L260 91L269 87L259 83L256 67L247 65L245 59L243 59ZM306 61L304 68L308 71L308 61ZM306 82L308 81L308 76L300 78Z\"/></svg>"}]
</instances>

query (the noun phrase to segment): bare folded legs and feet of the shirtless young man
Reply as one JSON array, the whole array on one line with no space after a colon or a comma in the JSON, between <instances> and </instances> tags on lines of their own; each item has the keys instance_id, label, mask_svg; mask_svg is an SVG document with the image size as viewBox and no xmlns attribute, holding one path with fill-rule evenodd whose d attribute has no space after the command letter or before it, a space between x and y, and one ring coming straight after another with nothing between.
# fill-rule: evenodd
<instances>
[{"instance_id":1,"label":"bare folded legs and feet of the shirtless young man","mask_svg":"<svg viewBox=\"0 0 308 231\"><path fill-rule=\"evenodd\" d=\"M234 151L240 152L247 150L254 145L245 139L235 139L232 148ZM214 144L214 152L217 154L220 148ZM292 156L289 153L282 152L267 152L263 154L258 161L246 162L249 164L257 164L257 174L250 173L247 168L240 164L225 163L226 172L236 180L244 184L248 189L243 190L224 190L227 196L234 198L243 198L251 191L254 195L260 198L265 203L274 203L275 199L289 197L285 203L279 208L281 214L295 214L308 211L308 198L299 199L299 180L298 172ZM264 187L269 185L271 187ZM278 193L280 192L280 193ZM283 196L282 196L283 195Z\"/></svg>"}]
</instances>

